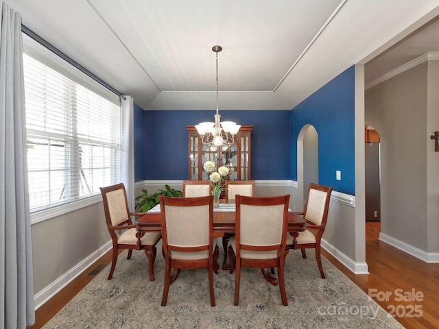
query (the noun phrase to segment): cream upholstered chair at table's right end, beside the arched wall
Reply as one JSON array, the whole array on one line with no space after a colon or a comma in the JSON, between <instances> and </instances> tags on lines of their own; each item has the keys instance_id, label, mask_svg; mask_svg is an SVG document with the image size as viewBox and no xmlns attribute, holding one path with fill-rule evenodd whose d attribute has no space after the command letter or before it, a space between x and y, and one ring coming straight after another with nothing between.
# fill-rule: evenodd
<instances>
[{"instance_id":1,"label":"cream upholstered chair at table's right end, beside the arched wall","mask_svg":"<svg viewBox=\"0 0 439 329\"><path fill-rule=\"evenodd\" d=\"M293 237L288 234L287 248L300 249L302 257L307 258L305 249L316 249L316 260L320 276L324 279L322 256L320 256L320 241L327 225L329 200L333 188L311 183L308 186L307 202L303 217L307 220L307 229L298 232L298 236Z\"/></svg>"}]
</instances>

